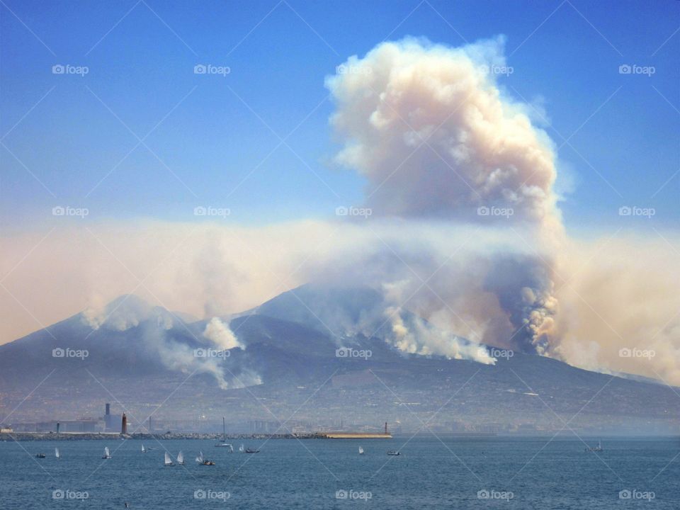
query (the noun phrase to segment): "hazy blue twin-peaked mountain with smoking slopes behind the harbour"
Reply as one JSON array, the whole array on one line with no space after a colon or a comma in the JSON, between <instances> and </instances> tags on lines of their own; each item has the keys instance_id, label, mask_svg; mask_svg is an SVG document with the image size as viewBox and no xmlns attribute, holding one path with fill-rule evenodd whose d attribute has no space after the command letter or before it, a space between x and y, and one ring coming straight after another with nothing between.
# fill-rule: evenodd
<instances>
[{"instance_id":1,"label":"hazy blue twin-peaked mountain with smoking slopes behind the harbour","mask_svg":"<svg viewBox=\"0 0 680 510\"><path fill-rule=\"evenodd\" d=\"M133 424L154 412L185 429L293 416L405 431L678 431L672 388L509 351L495 364L403 353L384 309L370 289L305 285L230 321L192 321L121 296L0 346L0 416L97 417L113 402Z\"/></svg>"}]
</instances>

